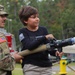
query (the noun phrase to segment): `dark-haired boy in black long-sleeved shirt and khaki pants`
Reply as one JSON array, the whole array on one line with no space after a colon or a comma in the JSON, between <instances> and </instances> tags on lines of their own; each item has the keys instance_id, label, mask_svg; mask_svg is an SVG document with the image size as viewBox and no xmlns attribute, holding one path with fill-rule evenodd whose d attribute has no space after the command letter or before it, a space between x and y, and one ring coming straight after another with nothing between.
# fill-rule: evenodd
<instances>
[{"instance_id":1,"label":"dark-haired boy in black long-sleeved shirt and khaki pants","mask_svg":"<svg viewBox=\"0 0 75 75\"><path fill-rule=\"evenodd\" d=\"M39 26L38 10L32 6L24 6L19 11L19 18L24 28L19 30L19 39L22 43L22 50L32 51L42 44L48 43L48 39L54 39L52 34L48 34L45 27ZM24 75L52 75L52 63L48 54L53 56L62 54L56 50L46 50L25 56L22 60Z\"/></svg>"}]
</instances>

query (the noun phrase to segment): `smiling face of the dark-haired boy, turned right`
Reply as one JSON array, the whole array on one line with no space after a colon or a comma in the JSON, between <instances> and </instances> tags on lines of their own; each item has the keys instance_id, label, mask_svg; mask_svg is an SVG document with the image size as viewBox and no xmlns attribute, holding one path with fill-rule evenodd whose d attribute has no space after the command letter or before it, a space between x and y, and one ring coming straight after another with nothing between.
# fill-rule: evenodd
<instances>
[{"instance_id":1,"label":"smiling face of the dark-haired boy, turned right","mask_svg":"<svg viewBox=\"0 0 75 75\"><path fill-rule=\"evenodd\" d=\"M28 27L35 28L39 25L39 17L38 14L31 15L27 21L24 21Z\"/></svg>"}]
</instances>

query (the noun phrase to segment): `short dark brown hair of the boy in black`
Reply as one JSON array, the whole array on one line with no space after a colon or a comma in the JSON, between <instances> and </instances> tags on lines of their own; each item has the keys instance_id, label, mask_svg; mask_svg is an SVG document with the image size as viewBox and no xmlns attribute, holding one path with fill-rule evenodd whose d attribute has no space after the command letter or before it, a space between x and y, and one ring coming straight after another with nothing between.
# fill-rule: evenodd
<instances>
[{"instance_id":1,"label":"short dark brown hair of the boy in black","mask_svg":"<svg viewBox=\"0 0 75 75\"><path fill-rule=\"evenodd\" d=\"M26 26L24 21L27 21L31 15L38 14L38 10L32 6L23 6L19 11L19 18L23 25Z\"/></svg>"}]
</instances>

